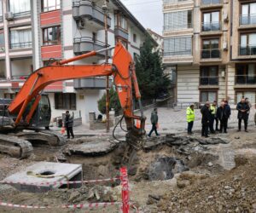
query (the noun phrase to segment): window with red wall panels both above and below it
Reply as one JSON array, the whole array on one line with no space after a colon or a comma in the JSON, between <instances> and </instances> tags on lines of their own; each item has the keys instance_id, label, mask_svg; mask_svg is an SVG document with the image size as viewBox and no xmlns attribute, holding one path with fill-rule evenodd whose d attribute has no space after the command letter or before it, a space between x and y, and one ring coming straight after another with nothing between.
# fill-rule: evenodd
<instances>
[{"instance_id":1,"label":"window with red wall panels both above and below it","mask_svg":"<svg viewBox=\"0 0 256 213\"><path fill-rule=\"evenodd\" d=\"M44 45L56 45L61 43L61 27L53 26L43 29Z\"/></svg>"}]
</instances>

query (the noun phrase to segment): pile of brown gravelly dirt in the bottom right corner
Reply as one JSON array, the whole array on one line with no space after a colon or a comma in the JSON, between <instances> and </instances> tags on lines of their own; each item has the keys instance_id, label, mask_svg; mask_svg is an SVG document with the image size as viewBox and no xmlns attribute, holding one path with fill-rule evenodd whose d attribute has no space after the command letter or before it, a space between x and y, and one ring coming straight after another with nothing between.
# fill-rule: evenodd
<instances>
[{"instance_id":1,"label":"pile of brown gravelly dirt in the bottom right corner","mask_svg":"<svg viewBox=\"0 0 256 213\"><path fill-rule=\"evenodd\" d=\"M256 212L256 158L239 156L240 165L215 177L180 175L177 188L144 212ZM183 183L183 184L179 184ZM152 200L152 198L150 198Z\"/></svg>"}]
</instances>

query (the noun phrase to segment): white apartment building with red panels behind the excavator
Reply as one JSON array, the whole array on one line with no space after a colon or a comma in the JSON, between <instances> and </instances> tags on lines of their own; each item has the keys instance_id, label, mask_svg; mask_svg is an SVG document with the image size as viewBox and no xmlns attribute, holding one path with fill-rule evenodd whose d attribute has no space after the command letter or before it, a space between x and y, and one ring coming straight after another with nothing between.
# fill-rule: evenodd
<instances>
[{"instance_id":1,"label":"white apartment building with red panels behind the excavator","mask_svg":"<svg viewBox=\"0 0 256 213\"><path fill-rule=\"evenodd\" d=\"M108 45L122 42L131 55L139 54L148 33L119 0L108 2ZM54 60L105 48L104 1L0 0L0 97L14 98L26 78ZM108 53L111 55L111 53ZM101 64L105 52L75 65ZM109 59L111 62L111 58ZM50 84L52 118L70 110L89 122L98 112L105 78L85 78Z\"/></svg>"}]
</instances>

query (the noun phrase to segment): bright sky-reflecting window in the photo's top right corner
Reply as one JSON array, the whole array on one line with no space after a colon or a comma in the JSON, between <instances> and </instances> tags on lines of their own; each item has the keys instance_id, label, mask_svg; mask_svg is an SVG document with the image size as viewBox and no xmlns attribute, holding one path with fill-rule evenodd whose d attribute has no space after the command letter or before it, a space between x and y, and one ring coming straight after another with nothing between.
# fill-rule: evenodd
<instances>
[{"instance_id":1,"label":"bright sky-reflecting window in the photo's top right corner","mask_svg":"<svg viewBox=\"0 0 256 213\"><path fill-rule=\"evenodd\" d=\"M256 3L241 4L241 25L256 24Z\"/></svg>"}]
</instances>

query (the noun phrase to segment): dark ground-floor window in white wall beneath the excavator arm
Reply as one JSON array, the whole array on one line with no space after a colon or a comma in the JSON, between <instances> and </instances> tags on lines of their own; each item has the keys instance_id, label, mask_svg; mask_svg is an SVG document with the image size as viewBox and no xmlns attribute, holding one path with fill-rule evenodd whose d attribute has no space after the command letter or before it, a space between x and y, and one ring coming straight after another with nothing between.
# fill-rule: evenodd
<instances>
[{"instance_id":1,"label":"dark ground-floor window in white wall beneath the excavator arm","mask_svg":"<svg viewBox=\"0 0 256 213\"><path fill-rule=\"evenodd\" d=\"M55 93L55 109L76 110L76 94Z\"/></svg>"}]
</instances>

